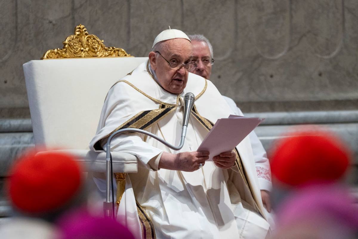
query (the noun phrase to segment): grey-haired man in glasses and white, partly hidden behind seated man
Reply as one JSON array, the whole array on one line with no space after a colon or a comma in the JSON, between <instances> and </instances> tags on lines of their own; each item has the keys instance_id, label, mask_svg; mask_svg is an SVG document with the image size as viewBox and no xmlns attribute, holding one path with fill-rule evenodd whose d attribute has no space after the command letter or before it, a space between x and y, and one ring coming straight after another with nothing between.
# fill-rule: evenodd
<instances>
[{"instance_id":1,"label":"grey-haired man in glasses and white, partly hidden behind seated man","mask_svg":"<svg viewBox=\"0 0 358 239\"><path fill-rule=\"evenodd\" d=\"M201 34L188 35L188 37L192 41L193 61L197 64L197 67L190 72L210 80L212 65L214 64L213 47L211 43ZM243 115L239 107L236 106L235 102L231 98L227 96L223 96L223 98L236 115ZM271 202L269 192L271 191L272 183L269 159L267 159L266 151L260 140L257 138L255 132L252 131L249 134L249 138L255 160L262 203L266 207L267 211L270 212Z\"/></svg>"}]
</instances>

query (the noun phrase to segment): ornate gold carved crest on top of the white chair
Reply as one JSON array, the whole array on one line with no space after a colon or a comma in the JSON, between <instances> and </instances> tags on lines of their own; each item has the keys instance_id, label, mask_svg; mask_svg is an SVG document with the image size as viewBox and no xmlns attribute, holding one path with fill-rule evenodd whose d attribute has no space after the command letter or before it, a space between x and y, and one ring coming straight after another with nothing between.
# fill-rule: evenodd
<instances>
[{"instance_id":1,"label":"ornate gold carved crest on top of the white chair","mask_svg":"<svg viewBox=\"0 0 358 239\"><path fill-rule=\"evenodd\" d=\"M96 35L89 35L84 25L79 24L62 42L62 49L48 50L41 59L77 58L77 57L129 57L122 48L106 47Z\"/></svg>"}]
</instances>

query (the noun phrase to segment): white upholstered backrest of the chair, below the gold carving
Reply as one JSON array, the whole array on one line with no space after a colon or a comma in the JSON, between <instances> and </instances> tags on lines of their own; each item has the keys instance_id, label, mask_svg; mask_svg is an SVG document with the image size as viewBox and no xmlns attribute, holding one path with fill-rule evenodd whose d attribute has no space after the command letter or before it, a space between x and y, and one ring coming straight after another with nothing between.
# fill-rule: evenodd
<instances>
[{"instance_id":1,"label":"white upholstered backrest of the chair, below the gold carving","mask_svg":"<svg viewBox=\"0 0 358 239\"><path fill-rule=\"evenodd\" d=\"M88 149L108 90L147 59L95 57L25 63L35 145Z\"/></svg>"}]
</instances>

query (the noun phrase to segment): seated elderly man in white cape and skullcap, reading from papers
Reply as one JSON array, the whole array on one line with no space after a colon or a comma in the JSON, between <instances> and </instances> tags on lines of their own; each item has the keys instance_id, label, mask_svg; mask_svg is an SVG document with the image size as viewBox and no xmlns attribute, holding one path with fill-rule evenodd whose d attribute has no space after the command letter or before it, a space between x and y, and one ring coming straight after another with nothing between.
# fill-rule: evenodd
<instances>
[{"instance_id":1,"label":"seated elderly man in white cape and skullcap, reading from papers","mask_svg":"<svg viewBox=\"0 0 358 239\"><path fill-rule=\"evenodd\" d=\"M196 151L213 123L233 111L210 81L188 72L195 67L191 57L187 35L164 30L154 40L149 60L108 92L90 143L97 151L123 128L144 129L178 145L183 97L195 95L182 149L174 151L139 133L113 138L112 151L138 159L138 172L126 178L118 218L124 218L136 238L265 238L267 211L250 141L246 138L208 162L209 152ZM104 178L94 178L100 191L105 190Z\"/></svg>"}]
</instances>

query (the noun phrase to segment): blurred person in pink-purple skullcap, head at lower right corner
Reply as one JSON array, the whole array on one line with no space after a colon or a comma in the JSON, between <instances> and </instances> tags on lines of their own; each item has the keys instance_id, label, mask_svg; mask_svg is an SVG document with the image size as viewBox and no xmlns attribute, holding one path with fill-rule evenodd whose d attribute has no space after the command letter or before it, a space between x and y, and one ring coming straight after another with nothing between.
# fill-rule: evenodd
<instances>
[{"instance_id":1,"label":"blurred person in pink-purple skullcap, head at lower right corner","mask_svg":"<svg viewBox=\"0 0 358 239\"><path fill-rule=\"evenodd\" d=\"M275 239L358 238L358 206L337 185L308 186L277 210Z\"/></svg>"}]
</instances>

